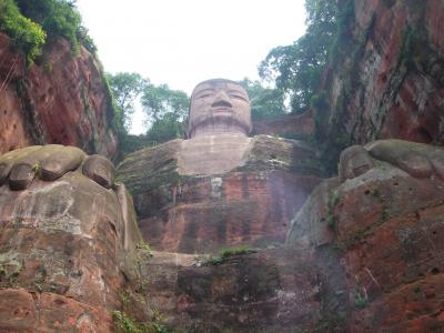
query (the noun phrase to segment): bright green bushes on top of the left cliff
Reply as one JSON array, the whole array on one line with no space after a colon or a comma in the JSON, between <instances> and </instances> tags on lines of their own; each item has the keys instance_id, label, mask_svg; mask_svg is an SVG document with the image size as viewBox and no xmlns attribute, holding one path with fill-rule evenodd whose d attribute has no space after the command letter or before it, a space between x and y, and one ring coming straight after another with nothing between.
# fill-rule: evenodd
<instances>
[{"instance_id":1,"label":"bright green bushes on top of the left cliff","mask_svg":"<svg viewBox=\"0 0 444 333\"><path fill-rule=\"evenodd\" d=\"M0 31L32 63L44 44L59 38L71 44L72 54L83 44L90 52L95 46L81 23L81 17L69 0L0 0Z\"/></svg>"}]
</instances>

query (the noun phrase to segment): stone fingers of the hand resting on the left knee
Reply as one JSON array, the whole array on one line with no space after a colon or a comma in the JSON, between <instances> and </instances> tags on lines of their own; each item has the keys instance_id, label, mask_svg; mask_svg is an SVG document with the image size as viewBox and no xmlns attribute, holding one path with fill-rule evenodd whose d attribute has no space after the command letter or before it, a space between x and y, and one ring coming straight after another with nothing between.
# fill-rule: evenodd
<instances>
[{"instance_id":1,"label":"stone fingers of the hand resting on the left knee","mask_svg":"<svg viewBox=\"0 0 444 333\"><path fill-rule=\"evenodd\" d=\"M59 144L32 145L0 155L0 185L24 190L34 178L54 181L75 170L105 189L113 185L114 167L107 158Z\"/></svg>"}]
</instances>

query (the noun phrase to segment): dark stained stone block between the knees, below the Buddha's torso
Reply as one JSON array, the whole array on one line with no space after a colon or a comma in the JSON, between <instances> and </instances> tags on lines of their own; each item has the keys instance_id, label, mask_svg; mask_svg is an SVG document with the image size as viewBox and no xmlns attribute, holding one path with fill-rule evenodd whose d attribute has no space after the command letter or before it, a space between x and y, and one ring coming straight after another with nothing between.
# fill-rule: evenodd
<instances>
[{"instance_id":1,"label":"dark stained stone block between the knees, below the Buddha's torso","mask_svg":"<svg viewBox=\"0 0 444 333\"><path fill-rule=\"evenodd\" d=\"M155 252L142 269L148 304L169 325L183 332L295 332L319 322L320 281L310 253L281 249L218 264L200 260L208 258Z\"/></svg>"}]
</instances>

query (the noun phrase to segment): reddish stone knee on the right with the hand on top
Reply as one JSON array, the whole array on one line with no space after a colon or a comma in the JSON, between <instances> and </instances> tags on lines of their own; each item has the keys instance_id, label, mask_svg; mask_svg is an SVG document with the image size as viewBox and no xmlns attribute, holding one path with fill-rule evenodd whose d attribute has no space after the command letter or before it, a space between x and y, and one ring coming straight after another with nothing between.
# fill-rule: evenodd
<instances>
[{"instance_id":1,"label":"reddish stone knee on the right with the hand on top","mask_svg":"<svg viewBox=\"0 0 444 333\"><path fill-rule=\"evenodd\" d=\"M352 332L443 330L443 160L441 148L396 140L352 147L341 178L293 220L289 246L337 253Z\"/></svg>"}]
</instances>

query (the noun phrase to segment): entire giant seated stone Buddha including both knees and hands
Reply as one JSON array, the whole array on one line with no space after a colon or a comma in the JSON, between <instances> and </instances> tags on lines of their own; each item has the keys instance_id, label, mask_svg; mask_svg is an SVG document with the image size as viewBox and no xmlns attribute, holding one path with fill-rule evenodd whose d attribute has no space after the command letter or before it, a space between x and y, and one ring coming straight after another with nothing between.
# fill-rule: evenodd
<instances>
[{"instance_id":1,"label":"entire giant seated stone Buddha including both knees and hands","mask_svg":"<svg viewBox=\"0 0 444 333\"><path fill-rule=\"evenodd\" d=\"M131 300L145 293L130 302L131 314L137 303L153 306L190 332L310 330L326 303L334 313L351 309L352 330L441 327L440 316L412 320L392 305L417 303L418 282L406 285L406 278L438 292L443 149L400 140L350 147L339 178L321 184L290 226L319 182L314 151L250 131L240 85L199 84L189 139L135 152L119 168L142 235L131 196L103 157L61 145L0 155L0 331L113 332L129 286L138 293ZM327 215L337 219L334 231ZM194 253L272 245L286 230L287 248L221 266L196 268L194 255L178 253L140 258L148 254L141 236L159 250ZM381 246L387 240L396 246ZM336 245L345 254L336 256ZM365 309L356 306L361 291ZM423 303L430 313L441 311L435 299ZM363 320L362 311L371 315ZM158 326L154 311L140 311L149 312Z\"/></svg>"}]
</instances>

